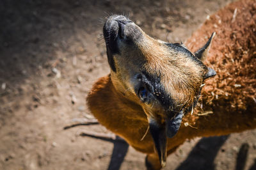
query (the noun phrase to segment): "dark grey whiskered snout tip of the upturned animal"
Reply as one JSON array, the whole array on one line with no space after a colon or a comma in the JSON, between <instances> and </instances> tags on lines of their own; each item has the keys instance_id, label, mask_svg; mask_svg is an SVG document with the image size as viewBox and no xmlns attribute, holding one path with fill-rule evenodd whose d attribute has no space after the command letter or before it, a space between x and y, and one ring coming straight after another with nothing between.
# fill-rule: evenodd
<instances>
[{"instance_id":1,"label":"dark grey whiskered snout tip of the upturned animal","mask_svg":"<svg viewBox=\"0 0 256 170\"><path fill-rule=\"evenodd\" d=\"M104 39L112 54L118 53L120 43L131 44L142 36L142 30L123 15L112 15L103 27Z\"/></svg>"}]
</instances>

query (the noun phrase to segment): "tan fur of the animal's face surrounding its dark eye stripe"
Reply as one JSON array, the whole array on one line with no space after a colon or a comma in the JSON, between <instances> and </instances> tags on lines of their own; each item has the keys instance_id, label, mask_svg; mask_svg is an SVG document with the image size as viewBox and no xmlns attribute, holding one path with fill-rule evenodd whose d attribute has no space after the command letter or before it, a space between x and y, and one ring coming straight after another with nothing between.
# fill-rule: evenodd
<instances>
[{"instance_id":1,"label":"tan fur of the animal's face surrounding its dark eye stripe","mask_svg":"<svg viewBox=\"0 0 256 170\"><path fill-rule=\"evenodd\" d=\"M164 116L163 111L157 111L158 115L156 114L159 105L141 103L134 91L132 76L145 70L149 75L160 78L165 93L172 98L175 106L189 107L203 82L204 67L193 61L191 56L186 56L188 54L174 50L164 42L141 32L143 38L135 42L136 47L131 48L121 43L120 54L114 56L116 72L111 72L111 77L116 90L124 93L127 99L140 104L147 110L146 114L154 113L151 117ZM140 66L140 63L143 65Z\"/></svg>"}]
</instances>

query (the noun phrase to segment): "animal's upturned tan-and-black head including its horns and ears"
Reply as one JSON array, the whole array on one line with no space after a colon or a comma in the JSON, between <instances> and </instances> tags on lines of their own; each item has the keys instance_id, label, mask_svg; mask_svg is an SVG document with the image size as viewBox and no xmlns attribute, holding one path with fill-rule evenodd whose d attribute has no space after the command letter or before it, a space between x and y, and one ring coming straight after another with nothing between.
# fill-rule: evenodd
<instances>
[{"instance_id":1,"label":"animal's upturned tan-and-black head including its horns and ears","mask_svg":"<svg viewBox=\"0 0 256 170\"><path fill-rule=\"evenodd\" d=\"M177 133L182 116L193 109L204 80L216 74L202 63L214 34L193 53L182 44L151 38L122 15L109 17L103 32L113 84L147 114L164 165L166 136Z\"/></svg>"}]
</instances>

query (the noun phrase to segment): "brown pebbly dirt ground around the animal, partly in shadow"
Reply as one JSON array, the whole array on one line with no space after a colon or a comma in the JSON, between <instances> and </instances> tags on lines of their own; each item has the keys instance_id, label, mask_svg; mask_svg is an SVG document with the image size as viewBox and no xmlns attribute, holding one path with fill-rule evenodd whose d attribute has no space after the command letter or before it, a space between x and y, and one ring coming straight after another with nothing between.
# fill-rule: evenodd
<instances>
[{"instance_id":1,"label":"brown pebbly dirt ground around the animal, partly in shadow","mask_svg":"<svg viewBox=\"0 0 256 170\"><path fill-rule=\"evenodd\" d=\"M82 137L100 125L86 95L109 72L105 18L130 16L148 33L184 42L230 1L0 1L0 169L145 169L145 155L118 141ZM256 169L256 130L187 141L164 169Z\"/></svg>"}]
</instances>

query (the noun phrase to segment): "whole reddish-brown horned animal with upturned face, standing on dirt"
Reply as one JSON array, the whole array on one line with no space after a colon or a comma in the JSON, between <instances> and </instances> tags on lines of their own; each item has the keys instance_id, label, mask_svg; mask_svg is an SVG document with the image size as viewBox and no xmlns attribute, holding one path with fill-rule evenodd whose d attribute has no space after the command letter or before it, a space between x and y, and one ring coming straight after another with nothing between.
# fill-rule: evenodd
<instances>
[{"instance_id":1,"label":"whole reddish-brown horned animal with upturned face, standing on dirt","mask_svg":"<svg viewBox=\"0 0 256 170\"><path fill-rule=\"evenodd\" d=\"M255 7L256 3L253 1L241 1L230 4L218 13L238 8L237 19L239 13L248 11L255 19ZM212 15L212 23L206 22L187 41L193 50L200 49L202 42L206 42L205 35L211 34L214 20L217 20L216 15ZM251 30L252 26L255 29L255 20L249 32L245 33L247 35L244 35L254 33L250 35L250 47L244 49L247 50L244 59L232 51L230 54L222 54L225 47L220 48L224 45L220 43L230 36L225 35L225 19L222 22L223 25L218 24L217 38L210 38L195 53L184 45L150 38L127 17L113 15L106 22L104 38L111 73L93 85L87 98L88 106L104 127L123 137L136 150L147 153L148 169L161 169L166 155L175 151L186 139L225 135L256 127L256 38L255 30ZM236 20L232 23L236 23ZM244 22L240 31L244 32L243 27L247 27L248 23L250 24ZM207 57L211 40L212 49ZM248 46L246 41L239 42L243 43L243 48ZM237 47L236 43L227 46L230 50ZM219 56L216 57L215 54ZM232 58L223 59L231 54ZM209 61L206 57L210 58ZM212 77L215 75L214 70L202 63L204 59L208 66L216 70L215 77ZM247 69L246 73L237 75L235 71L220 69L221 66L228 65L228 62L233 62L232 60L235 62L232 65L234 70ZM248 61L250 63L245 65L244 62ZM225 80L236 77L241 81ZM202 97L199 105L202 109L195 109L198 108L197 99L200 94Z\"/></svg>"}]
</instances>

